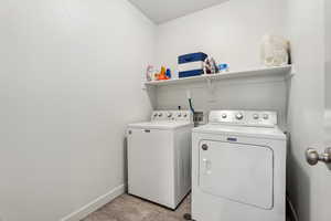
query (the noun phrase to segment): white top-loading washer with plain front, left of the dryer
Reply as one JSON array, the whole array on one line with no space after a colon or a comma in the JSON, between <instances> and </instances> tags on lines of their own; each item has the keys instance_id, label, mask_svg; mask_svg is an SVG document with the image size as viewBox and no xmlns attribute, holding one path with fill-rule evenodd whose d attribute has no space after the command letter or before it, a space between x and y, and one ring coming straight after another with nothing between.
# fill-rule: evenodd
<instances>
[{"instance_id":1,"label":"white top-loading washer with plain front, left of the dryer","mask_svg":"<svg viewBox=\"0 0 331 221\"><path fill-rule=\"evenodd\" d=\"M191 190L190 110L153 112L150 122L130 124L128 192L175 209Z\"/></svg>"}]
</instances>

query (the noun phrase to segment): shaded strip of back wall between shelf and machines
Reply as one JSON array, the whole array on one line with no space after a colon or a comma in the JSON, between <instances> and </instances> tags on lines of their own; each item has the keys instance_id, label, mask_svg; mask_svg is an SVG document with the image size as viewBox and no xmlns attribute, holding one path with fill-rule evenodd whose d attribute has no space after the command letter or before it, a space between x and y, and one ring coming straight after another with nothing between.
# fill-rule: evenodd
<instances>
[{"instance_id":1,"label":"shaded strip of back wall between shelf and machines","mask_svg":"<svg viewBox=\"0 0 331 221\"><path fill-rule=\"evenodd\" d=\"M157 88L157 109L188 109L186 91L191 92L196 110L256 109L276 110L279 125L285 126L287 83L281 76L255 76L189 84L168 85Z\"/></svg>"}]
</instances>

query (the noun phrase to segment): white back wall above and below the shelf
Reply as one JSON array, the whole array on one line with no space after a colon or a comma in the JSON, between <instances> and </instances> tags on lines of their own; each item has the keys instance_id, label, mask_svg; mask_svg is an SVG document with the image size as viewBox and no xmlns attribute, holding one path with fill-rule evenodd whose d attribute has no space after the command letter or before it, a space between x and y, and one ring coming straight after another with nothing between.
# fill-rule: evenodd
<instances>
[{"instance_id":1,"label":"white back wall above and below the shelf","mask_svg":"<svg viewBox=\"0 0 331 221\"><path fill-rule=\"evenodd\" d=\"M205 52L231 70L256 69L260 64L261 38L285 34L284 1L231 0L158 27L157 66L177 70L178 56ZM220 108L278 110L286 120L286 84L279 78L225 81L207 91L205 84L190 85L196 109ZM162 87L158 108L186 107L186 87Z\"/></svg>"}]
</instances>

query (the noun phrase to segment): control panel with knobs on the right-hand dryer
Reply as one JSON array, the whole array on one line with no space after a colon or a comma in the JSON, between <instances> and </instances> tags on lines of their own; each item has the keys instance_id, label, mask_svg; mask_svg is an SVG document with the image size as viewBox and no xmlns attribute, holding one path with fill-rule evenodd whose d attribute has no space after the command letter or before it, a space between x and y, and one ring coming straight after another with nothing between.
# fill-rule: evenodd
<instances>
[{"instance_id":1,"label":"control panel with knobs on the right-hand dryer","mask_svg":"<svg viewBox=\"0 0 331 221\"><path fill-rule=\"evenodd\" d=\"M277 113L259 110L212 110L209 122L211 124L275 127L277 125Z\"/></svg>"}]
</instances>

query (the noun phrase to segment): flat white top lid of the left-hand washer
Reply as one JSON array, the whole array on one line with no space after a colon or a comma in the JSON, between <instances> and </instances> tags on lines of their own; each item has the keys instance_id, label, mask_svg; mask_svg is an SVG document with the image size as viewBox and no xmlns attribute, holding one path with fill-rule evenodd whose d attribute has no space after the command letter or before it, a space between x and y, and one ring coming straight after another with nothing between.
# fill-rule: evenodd
<instances>
[{"instance_id":1,"label":"flat white top lid of the left-hand washer","mask_svg":"<svg viewBox=\"0 0 331 221\"><path fill-rule=\"evenodd\" d=\"M142 122L128 125L129 128L141 129L177 129L185 126L193 127L193 124L188 122Z\"/></svg>"}]
</instances>

